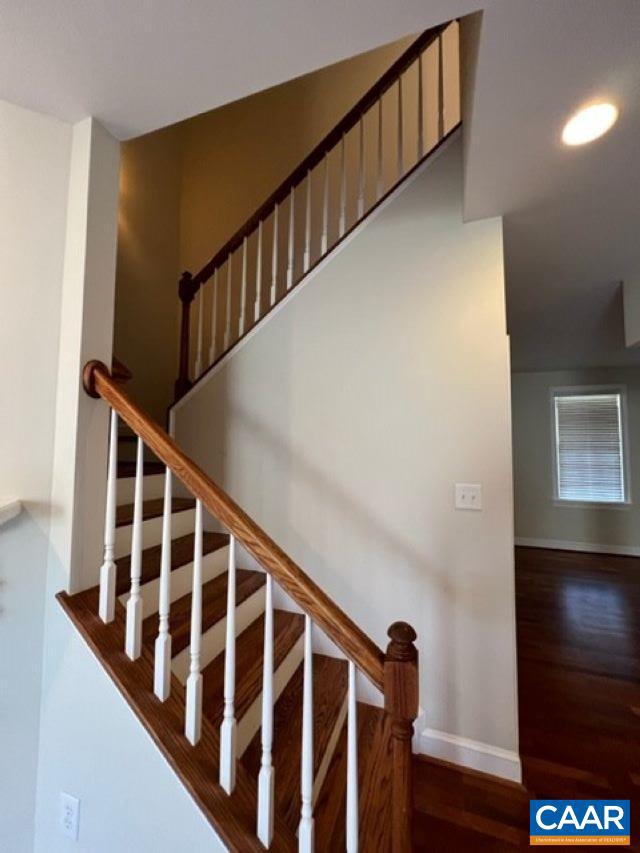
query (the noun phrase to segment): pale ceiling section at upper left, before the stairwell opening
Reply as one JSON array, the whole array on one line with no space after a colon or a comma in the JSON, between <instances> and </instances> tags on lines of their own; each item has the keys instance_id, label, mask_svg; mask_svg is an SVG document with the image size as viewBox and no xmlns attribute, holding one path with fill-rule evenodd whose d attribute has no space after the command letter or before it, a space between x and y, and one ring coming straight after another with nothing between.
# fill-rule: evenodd
<instances>
[{"instance_id":1,"label":"pale ceiling section at upper left, before the stairwell opening","mask_svg":"<svg viewBox=\"0 0 640 853\"><path fill-rule=\"evenodd\" d=\"M0 98L120 139L492 0L1 0Z\"/></svg>"}]
</instances>

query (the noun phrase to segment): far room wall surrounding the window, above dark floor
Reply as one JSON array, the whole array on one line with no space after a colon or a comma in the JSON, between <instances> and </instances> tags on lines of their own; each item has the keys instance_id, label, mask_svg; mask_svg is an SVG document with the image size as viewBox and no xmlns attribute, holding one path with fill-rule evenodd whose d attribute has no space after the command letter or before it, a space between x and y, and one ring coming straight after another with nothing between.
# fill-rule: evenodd
<instances>
[{"instance_id":1,"label":"far room wall surrounding the window, above dark floor","mask_svg":"<svg viewBox=\"0 0 640 853\"><path fill-rule=\"evenodd\" d=\"M551 389L573 385L627 388L631 500L628 507L562 506L553 493ZM514 373L513 456L516 539L522 544L640 554L638 460L640 369L592 368Z\"/></svg>"}]
</instances>

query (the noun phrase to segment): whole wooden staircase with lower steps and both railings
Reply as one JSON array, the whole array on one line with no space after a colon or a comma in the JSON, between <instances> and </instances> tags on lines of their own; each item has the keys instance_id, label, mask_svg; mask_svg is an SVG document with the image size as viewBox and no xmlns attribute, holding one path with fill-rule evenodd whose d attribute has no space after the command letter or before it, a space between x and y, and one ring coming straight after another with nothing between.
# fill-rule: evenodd
<instances>
[{"instance_id":1,"label":"whole wooden staircase with lower steps and both railings","mask_svg":"<svg viewBox=\"0 0 640 853\"><path fill-rule=\"evenodd\" d=\"M200 273L183 275L178 397L457 127L459 102L445 102L451 38L456 25L420 36ZM372 127L375 162L365 160ZM111 412L104 561L100 583L60 593L61 605L229 849L407 853L415 632L394 623L380 649L134 403L127 378L85 367L85 390ZM360 701L363 680L377 705Z\"/></svg>"}]
</instances>

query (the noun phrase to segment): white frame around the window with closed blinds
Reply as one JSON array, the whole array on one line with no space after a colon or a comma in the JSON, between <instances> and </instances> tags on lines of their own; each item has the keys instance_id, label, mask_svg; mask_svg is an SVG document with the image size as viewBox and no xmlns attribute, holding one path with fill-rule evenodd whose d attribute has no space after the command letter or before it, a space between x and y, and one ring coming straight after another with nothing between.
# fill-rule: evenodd
<instances>
[{"instance_id":1,"label":"white frame around the window with closed blinds","mask_svg":"<svg viewBox=\"0 0 640 853\"><path fill-rule=\"evenodd\" d=\"M570 498L560 497L558 483L558 448L557 448L557 424L555 398L560 396L576 397L588 394L619 394L620 395L620 430L622 436L622 478L624 489L623 501L576 501ZM628 430L628 407L626 385L562 385L549 389L549 413L551 419L551 459L553 477L552 501L560 507L580 507L591 509L613 509L628 510L632 505L631 500L631 464L629 459L629 430Z\"/></svg>"}]
</instances>

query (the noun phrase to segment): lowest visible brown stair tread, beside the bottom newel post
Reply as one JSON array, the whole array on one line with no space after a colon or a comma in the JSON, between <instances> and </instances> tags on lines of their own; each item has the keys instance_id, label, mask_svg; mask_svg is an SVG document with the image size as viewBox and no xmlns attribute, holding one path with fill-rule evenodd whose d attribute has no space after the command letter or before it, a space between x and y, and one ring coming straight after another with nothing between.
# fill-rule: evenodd
<instances>
[{"instance_id":1,"label":"lowest visible brown stair tread, beside the bottom newel post","mask_svg":"<svg viewBox=\"0 0 640 853\"><path fill-rule=\"evenodd\" d=\"M391 741L381 708L358 702L358 788L360 849L391 849ZM346 844L347 727L343 726L314 809L316 851Z\"/></svg>"}]
</instances>

